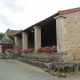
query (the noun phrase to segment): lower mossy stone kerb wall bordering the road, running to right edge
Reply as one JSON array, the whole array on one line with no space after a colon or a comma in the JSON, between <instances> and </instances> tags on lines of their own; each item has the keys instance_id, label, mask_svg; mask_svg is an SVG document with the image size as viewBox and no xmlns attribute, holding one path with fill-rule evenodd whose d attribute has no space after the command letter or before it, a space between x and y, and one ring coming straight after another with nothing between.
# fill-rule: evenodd
<instances>
[{"instance_id":1,"label":"lower mossy stone kerb wall bordering the road, running to right edge","mask_svg":"<svg viewBox=\"0 0 80 80\"><path fill-rule=\"evenodd\" d=\"M45 61L30 60L25 57L24 58L20 57L17 60L40 67L40 68L47 68L48 71L52 70L53 67L60 69L67 66L71 71L77 72L80 66L79 63L74 63L74 62L45 62Z\"/></svg>"}]
</instances>

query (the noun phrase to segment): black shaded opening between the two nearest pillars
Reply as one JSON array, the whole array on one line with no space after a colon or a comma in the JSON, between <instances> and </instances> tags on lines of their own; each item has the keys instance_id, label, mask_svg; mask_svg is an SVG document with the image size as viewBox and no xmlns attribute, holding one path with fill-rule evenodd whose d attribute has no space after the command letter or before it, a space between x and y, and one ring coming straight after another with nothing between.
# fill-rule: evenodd
<instances>
[{"instance_id":1,"label":"black shaded opening between the two nearest pillars","mask_svg":"<svg viewBox=\"0 0 80 80\"><path fill-rule=\"evenodd\" d=\"M42 47L53 46L56 44L56 20L45 24L41 28Z\"/></svg>"}]
</instances>

